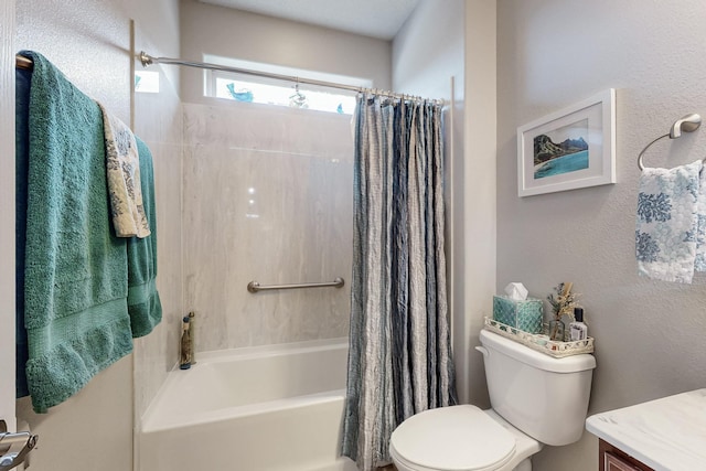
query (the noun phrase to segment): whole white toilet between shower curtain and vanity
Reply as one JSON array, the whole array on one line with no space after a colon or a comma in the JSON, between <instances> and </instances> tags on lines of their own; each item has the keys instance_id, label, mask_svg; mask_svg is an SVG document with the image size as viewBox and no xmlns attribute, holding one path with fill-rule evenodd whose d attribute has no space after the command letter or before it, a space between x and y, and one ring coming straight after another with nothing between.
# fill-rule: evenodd
<instances>
[{"instance_id":1,"label":"whole white toilet between shower curtain and vanity","mask_svg":"<svg viewBox=\"0 0 706 471\"><path fill-rule=\"evenodd\" d=\"M545 445L581 438L596 358L556 358L488 330L480 332L491 408L440 407L393 432L398 471L531 471Z\"/></svg>"}]
</instances>

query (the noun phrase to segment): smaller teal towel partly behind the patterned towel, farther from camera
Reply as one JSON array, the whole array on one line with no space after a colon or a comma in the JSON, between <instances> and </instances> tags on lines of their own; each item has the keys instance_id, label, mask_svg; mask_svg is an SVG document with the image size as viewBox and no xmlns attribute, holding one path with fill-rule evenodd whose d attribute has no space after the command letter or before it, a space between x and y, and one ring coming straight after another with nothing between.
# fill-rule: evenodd
<instances>
[{"instance_id":1,"label":"smaller teal towel partly behind the patterned towel, farther from camera","mask_svg":"<svg viewBox=\"0 0 706 471\"><path fill-rule=\"evenodd\" d=\"M140 185L142 206L151 235L128 239L128 311L132 336L143 336L162 320L162 304L157 292L157 214L154 212L154 183L152 154L137 136L140 157Z\"/></svg>"}]
</instances>

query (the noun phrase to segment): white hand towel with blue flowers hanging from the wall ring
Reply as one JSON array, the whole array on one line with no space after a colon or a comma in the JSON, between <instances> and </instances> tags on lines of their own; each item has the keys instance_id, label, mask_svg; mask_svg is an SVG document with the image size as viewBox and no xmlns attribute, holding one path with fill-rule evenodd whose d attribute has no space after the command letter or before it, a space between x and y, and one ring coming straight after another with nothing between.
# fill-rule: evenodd
<instances>
[{"instance_id":1,"label":"white hand towel with blue flowers hanging from the wall ring","mask_svg":"<svg viewBox=\"0 0 706 471\"><path fill-rule=\"evenodd\" d=\"M642 171L635 227L640 275L691 283L695 269L706 269L706 172L702 169L699 160Z\"/></svg>"}]
</instances>

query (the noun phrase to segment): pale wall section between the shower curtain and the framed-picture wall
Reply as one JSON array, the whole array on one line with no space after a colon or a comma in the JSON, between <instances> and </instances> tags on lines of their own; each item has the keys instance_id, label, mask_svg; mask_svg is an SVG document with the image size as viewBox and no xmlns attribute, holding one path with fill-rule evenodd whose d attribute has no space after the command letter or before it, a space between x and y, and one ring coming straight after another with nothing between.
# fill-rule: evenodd
<instances>
[{"instance_id":1,"label":"pale wall section between the shower curtain and the framed-picture wall","mask_svg":"<svg viewBox=\"0 0 706 471\"><path fill-rule=\"evenodd\" d=\"M493 2L426 0L393 42L393 88L448 103L445 164L453 360L460 400L480 406L488 405L488 393L473 346L481 313L495 290L494 39Z\"/></svg>"}]
</instances>

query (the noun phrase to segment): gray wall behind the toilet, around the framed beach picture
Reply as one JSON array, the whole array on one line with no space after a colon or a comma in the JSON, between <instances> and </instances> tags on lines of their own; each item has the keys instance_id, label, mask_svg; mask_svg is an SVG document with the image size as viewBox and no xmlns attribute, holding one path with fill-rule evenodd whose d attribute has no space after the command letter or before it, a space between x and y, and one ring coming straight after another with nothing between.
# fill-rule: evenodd
<instances>
[{"instance_id":1,"label":"gray wall behind the toilet, around the framed beach picture","mask_svg":"<svg viewBox=\"0 0 706 471\"><path fill-rule=\"evenodd\" d=\"M698 4L698 6L697 6ZM498 1L498 285L546 298L559 281L582 293L598 368L590 414L704 386L706 278L692 286L637 275L637 157L672 122L706 113L697 2ZM517 197L516 127L617 89L618 183ZM704 157L706 133L662 141L652 167ZM490 302L490 301L489 301ZM597 439L548 447L543 471L597 469Z\"/></svg>"}]
</instances>

